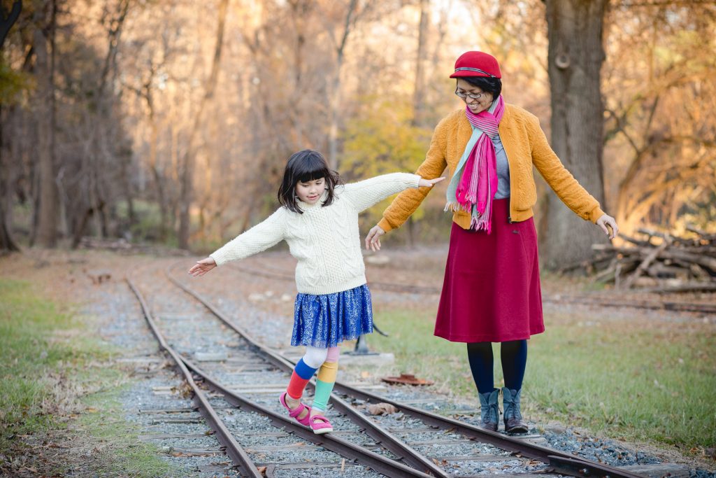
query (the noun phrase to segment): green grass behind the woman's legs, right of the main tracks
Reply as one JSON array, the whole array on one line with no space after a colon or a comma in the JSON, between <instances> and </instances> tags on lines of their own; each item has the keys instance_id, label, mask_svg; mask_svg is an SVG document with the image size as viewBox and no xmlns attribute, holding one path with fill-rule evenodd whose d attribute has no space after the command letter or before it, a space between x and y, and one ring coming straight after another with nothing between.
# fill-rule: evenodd
<instances>
[{"instance_id":1,"label":"green grass behind the woman's legs, right of the main tracks","mask_svg":"<svg viewBox=\"0 0 716 478\"><path fill-rule=\"evenodd\" d=\"M372 335L372 348L395 353L397 371L476 402L465 344L432 335L432 310L377 310L391 336ZM545 320L546 333L529 345L523 385L528 419L693 453L716 444L715 336L707 326L574 315ZM495 386L501 386L499 348L493 347Z\"/></svg>"}]
</instances>

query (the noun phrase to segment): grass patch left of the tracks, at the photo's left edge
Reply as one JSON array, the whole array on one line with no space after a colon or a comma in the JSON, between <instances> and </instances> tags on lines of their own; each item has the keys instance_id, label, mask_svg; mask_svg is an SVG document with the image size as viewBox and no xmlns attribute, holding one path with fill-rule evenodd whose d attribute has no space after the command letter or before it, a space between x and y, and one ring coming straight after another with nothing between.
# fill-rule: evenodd
<instances>
[{"instance_id":1,"label":"grass patch left of the tracks, at the photo's left edge","mask_svg":"<svg viewBox=\"0 0 716 478\"><path fill-rule=\"evenodd\" d=\"M77 466L162 476L170 467L155 448L137 444L127 426L117 426L117 383L127 375L109 363L112 350L91 337L91 326L59 307L66 306L29 282L0 278L0 474L21 464L51 476ZM103 389L108 391L97 393ZM105 451L72 462L69 454L52 452L57 446L47 444L53 441Z\"/></svg>"}]
</instances>

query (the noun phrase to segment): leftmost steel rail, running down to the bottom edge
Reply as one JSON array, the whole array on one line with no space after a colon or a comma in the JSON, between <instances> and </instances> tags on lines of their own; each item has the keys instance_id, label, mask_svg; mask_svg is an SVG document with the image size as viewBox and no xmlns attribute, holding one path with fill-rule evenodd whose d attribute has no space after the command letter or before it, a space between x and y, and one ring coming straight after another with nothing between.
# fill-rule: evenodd
<instances>
[{"instance_id":1,"label":"leftmost steel rail, running down to the bottom edge","mask_svg":"<svg viewBox=\"0 0 716 478\"><path fill-rule=\"evenodd\" d=\"M244 475L251 478L261 478L262 475L260 472L258 472L256 464L254 464L253 460L248 457L246 451L244 451L241 445L238 444L236 439L233 438L231 432L228 431L226 425L223 424L223 421L221 421L219 416L216 414L216 411L214 410L213 406L211 406L211 403L209 403L203 391L201 391L201 389L196 385L193 376L184 365L184 362L180 355L178 355L178 353L176 353L174 349L171 348L170 345L168 345L166 340L164 340L159 329L157 328L156 322L152 317L152 314L149 310L149 307L147 306L147 302L145 301L144 296L137 289L137 287L132 282L132 279L130 279L129 277L127 277L127 285L129 285L130 289L137 297L137 300L139 300L139 303L142 306L142 312L144 314L145 320L147 321L149 328L152 330L153 335L159 342L160 347L165 350L166 353L171 355L176 366L179 368L182 375L184 376L185 381L189 384L192 391L194 392L194 404L197 406L200 414L204 417L209 426L211 426L211 429L216 431L216 438L218 439L219 443L221 443L225 447L226 454L228 454L231 460L236 464L236 466L241 470Z\"/></svg>"}]
</instances>

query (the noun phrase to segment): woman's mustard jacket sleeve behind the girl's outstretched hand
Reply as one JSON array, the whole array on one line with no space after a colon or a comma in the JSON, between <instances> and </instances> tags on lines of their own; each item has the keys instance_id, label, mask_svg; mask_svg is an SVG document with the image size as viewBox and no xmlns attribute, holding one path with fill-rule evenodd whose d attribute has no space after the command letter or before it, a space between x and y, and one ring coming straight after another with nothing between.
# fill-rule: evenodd
<instances>
[{"instance_id":1,"label":"woman's mustard jacket sleeve behind the girl's outstretched hand","mask_svg":"<svg viewBox=\"0 0 716 478\"><path fill-rule=\"evenodd\" d=\"M415 171L421 178L435 179L448 167L448 161L445 159L445 140L448 134L445 124L445 120L442 120L435 127L425 161ZM386 232L402 226L430 191L432 188L417 188L400 193L383 211L383 219L378 222L378 226Z\"/></svg>"}]
</instances>

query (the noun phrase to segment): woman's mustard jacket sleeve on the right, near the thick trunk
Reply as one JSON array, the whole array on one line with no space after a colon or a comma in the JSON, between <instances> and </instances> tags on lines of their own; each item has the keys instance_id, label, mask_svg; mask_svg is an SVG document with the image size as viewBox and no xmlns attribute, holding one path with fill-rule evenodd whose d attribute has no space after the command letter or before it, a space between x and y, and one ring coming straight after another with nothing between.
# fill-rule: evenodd
<instances>
[{"instance_id":1,"label":"woman's mustard jacket sleeve on the right, near the thick trunk","mask_svg":"<svg viewBox=\"0 0 716 478\"><path fill-rule=\"evenodd\" d=\"M604 214L599 207L599 201L591 196L559 161L540 128L539 120L536 117L531 120L528 129L532 147L532 163L537 171L569 209L582 219L596 222Z\"/></svg>"}]
</instances>

